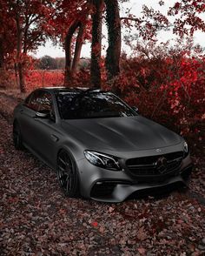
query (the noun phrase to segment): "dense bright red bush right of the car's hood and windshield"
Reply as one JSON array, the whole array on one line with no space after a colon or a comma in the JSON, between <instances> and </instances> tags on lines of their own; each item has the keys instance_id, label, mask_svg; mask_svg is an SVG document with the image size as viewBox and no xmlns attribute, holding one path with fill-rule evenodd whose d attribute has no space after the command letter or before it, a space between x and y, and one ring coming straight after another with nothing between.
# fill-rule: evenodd
<instances>
[{"instance_id":1,"label":"dense bright red bush right of the car's hood and windshield","mask_svg":"<svg viewBox=\"0 0 205 256\"><path fill-rule=\"evenodd\" d=\"M205 119L205 56L122 62L113 90L142 115L155 119L190 140L202 141ZM154 67L154 68L153 68Z\"/></svg>"}]
</instances>

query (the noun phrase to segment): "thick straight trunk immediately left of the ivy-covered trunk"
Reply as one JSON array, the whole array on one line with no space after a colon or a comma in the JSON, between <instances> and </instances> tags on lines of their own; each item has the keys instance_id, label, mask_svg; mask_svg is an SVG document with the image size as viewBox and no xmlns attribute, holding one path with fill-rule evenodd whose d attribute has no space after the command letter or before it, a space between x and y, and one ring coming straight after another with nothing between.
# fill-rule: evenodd
<instances>
[{"instance_id":1,"label":"thick straight trunk immediately left of the ivy-covered trunk","mask_svg":"<svg viewBox=\"0 0 205 256\"><path fill-rule=\"evenodd\" d=\"M92 15L91 84L101 88L102 12L103 0L93 0L95 12Z\"/></svg>"}]
</instances>

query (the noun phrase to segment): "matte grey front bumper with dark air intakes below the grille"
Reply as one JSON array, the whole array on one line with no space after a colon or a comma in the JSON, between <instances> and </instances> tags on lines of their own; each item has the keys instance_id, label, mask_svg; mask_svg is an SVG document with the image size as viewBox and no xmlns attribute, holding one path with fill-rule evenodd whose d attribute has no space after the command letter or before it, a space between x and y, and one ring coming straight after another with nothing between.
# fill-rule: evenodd
<instances>
[{"instance_id":1,"label":"matte grey front bumper with dark air intakes below the grille","mask_svg":"<svg viewBox=\"0 0 205 256\"><path fill-rule=\"evenodd\" d=\"M81 194L84 198L118 203L127 199L134 192L152 188L160 189L176 183L186 185L192 170L192 162L188 155L187 158L182 159L177 174L154 181L134 179L126 168L117 172L96 167L91 165L86 158L77 161L77 167L80 176Z\"/></svg>"}]
</instances>

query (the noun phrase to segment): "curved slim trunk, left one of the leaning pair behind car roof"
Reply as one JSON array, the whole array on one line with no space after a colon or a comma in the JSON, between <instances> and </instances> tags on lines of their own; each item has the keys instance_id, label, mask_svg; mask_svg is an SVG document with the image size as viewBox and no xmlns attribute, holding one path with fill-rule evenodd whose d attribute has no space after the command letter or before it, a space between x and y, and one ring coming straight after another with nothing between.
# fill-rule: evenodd
<instances>
[{"instance_id":1,"label":"curved slim trunk, left one of the leaning pair behind car roof","mask_svg":"<svg viewBox=\"0 0 205 256\"><path fill-rule=\"evenodd\" d=\"M70 25L67 35L65 37L65 77L64 84L68 85L70 80L72 80L72 51L71 44L73 35L80 25L80 22L76 20L73 24Z\"/></svg>"}]
</instances>

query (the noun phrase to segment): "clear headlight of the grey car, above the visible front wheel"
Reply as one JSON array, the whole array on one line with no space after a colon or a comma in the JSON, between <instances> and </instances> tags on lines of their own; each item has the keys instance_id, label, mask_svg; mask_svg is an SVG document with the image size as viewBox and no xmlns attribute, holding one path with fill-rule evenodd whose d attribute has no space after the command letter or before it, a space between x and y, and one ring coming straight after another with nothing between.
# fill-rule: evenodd
<instances>
[{"instance_id":1,"label":"clear headlight of the grey car, above the visible front wheel","mask_svg":"<svg viewBox=\"0 0 205 256\"><path fill-rule=\"evenodd\" d=\"M96 165L98 167L108 169L111 171L120 171L121 167L118 162L118 158L92 151L84 151L85 158L89 161L90 164Z\"/></svg>"}]
</instances>

